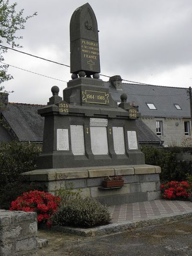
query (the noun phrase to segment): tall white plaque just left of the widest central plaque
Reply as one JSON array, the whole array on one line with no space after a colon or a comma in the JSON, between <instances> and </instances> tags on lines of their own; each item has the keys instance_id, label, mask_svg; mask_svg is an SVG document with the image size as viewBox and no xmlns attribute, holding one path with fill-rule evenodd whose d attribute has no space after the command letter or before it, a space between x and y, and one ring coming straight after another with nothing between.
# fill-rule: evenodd
<instances>
[{"instance_id":1,"label":"tall white plaque just left of the widest central plaque","mask_svg":"<svg viewBox=\"0 0 192 256\"><path fill-rule=\"evenodd\" d=\"M70 125L72 153L74 156L84 155L84 127L83 125Z\"/></svg>"}]
</instances>

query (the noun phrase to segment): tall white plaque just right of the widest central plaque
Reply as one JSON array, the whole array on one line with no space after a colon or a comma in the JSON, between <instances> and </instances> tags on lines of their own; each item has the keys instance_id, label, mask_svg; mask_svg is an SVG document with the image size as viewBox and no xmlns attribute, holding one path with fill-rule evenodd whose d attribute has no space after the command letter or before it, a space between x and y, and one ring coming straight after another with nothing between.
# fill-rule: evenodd
<instances>
[{"instance_id":1,"label":"tall white plaque just right of the widest central plaque","mask_svg":"<svg viewBox=\"0 0 192 256\"><path fill-rule=\"evenodd\" d=\"M123 127L113 127L114 150L117 155L125 154L125 141Z\"/></svg>"}]
</instances>

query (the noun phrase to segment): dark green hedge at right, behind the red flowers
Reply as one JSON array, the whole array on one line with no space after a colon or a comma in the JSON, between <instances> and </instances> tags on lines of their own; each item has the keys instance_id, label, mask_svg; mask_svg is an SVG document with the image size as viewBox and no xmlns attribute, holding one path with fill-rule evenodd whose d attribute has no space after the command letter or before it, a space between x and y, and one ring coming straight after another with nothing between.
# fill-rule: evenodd
<instances>
[{"instance_id":1,"label":"dark green hedge at right, behind the red flowers","mask_svg":"<svg viewBox=\"0 0 192 256\"><path fill-rule=\"evenodd\" d=\"M155 148L143 146L142 152L145 155L146 164L161 167L160 180L162 183L186 180L186 174L191 172L191 162L176 161L176 153L181 152L180 147Z\"/></svg>"}]
</instances>

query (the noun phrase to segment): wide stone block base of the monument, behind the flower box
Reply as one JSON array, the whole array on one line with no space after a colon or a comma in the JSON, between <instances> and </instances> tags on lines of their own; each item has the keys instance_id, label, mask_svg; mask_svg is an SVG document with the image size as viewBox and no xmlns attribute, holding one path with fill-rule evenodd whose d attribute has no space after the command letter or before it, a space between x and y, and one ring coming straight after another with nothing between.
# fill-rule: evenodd
<instances>
[{"instance_id":1,"label":"wide stone block base of the monument, behind the flower box","mask_svg":"<svg viewBox=\"0 0 192 256\"><path fill-rule=\"evenodd\" d=\"M26 181L46 186L48 192L57 194L60 188L81 189L83 196L96 198L107 206L142 202L160 198L159 173L153 165L103 166L42 169L24 172ZM106 176L122 175L121 188L102 188Z\"/></svg>"}]
</instances>

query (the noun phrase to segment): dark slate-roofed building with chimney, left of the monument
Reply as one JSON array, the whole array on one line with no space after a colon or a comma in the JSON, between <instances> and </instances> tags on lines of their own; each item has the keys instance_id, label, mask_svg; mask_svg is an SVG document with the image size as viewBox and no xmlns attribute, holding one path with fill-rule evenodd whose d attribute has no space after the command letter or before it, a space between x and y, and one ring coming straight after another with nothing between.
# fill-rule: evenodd
<instances>
[{"instance_id":1,"label":"dark slate-roofed building with chimney, left of the monument","mask_svg":"<svg viewBox=\"0 0 192 256\"><path fill-rule=\"evenodd\" d=\"M44 118L37 109L43 106L8 103L8 94L0 93L0 142L16 139L42 143Z\"/></svg>"}]
</instances>

